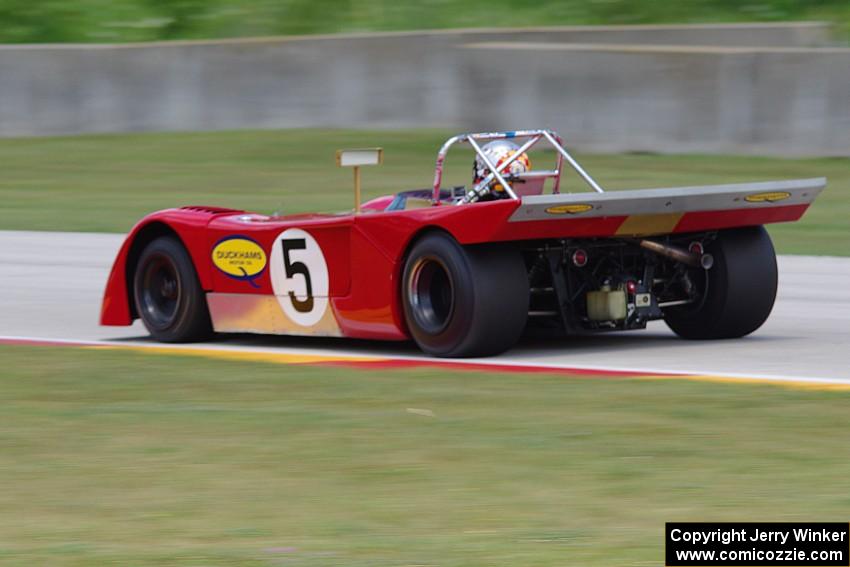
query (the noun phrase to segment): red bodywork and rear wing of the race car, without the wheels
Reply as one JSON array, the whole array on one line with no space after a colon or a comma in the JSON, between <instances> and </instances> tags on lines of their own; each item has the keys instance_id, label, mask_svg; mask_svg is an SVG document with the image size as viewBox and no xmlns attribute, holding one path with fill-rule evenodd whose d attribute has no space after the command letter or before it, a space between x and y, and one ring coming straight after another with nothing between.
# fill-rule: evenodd
<instances>
[{"instance_id":1,"label":"red bodywork and rear wing of the race car, without the wheels","mask_svg":"<svg viewBox=\"0 0 850 567\"><path fill-rule=\"evenodd\" d=\"M367 204L361 214L282 217L215 207L169 209L146 217L128 235L107 283L101 323L129 325L138 316L135 261L147 242L164 234L189 251L218 332L403 340L408 332L399 282L411 244L429 231L448 233L462 245L520 247L530 278L544 262L550 269L546 288L566 294L551 274L566 266L572 250L598 248L610 255L611 246L620 246L645 255L651 253L637 246L640 240L687 245L730 227L795 221L824 186L825 179L805 179L526 195L463 206L436 198L434 206L401 210L385 199L377 208ZM439 181L436 190L440 195ZM587 319L584 311L559 313L564 300L559 296L546 312L567 330L599 327L580 322ZM632 327L641 325L645 320Z\"/></svg>"}]
</instances>

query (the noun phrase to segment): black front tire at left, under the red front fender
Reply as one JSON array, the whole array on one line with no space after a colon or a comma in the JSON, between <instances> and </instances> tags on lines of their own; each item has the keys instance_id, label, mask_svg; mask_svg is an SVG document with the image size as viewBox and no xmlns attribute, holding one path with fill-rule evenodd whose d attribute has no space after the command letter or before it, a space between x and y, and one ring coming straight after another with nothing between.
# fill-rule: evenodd
<instances>
[{"instance_id":1,"label":"black front tire at left, under the red front fender","mask_svg":"<svg viewBox=\"0 0 850 567\"><path fill-rule=\"evenodd\" d=\"M142 251L133 277L133 299L136 313L158 341L195 342L213 334L192 259L173 237L159 237Z\"/></svg>"}]
</instances>

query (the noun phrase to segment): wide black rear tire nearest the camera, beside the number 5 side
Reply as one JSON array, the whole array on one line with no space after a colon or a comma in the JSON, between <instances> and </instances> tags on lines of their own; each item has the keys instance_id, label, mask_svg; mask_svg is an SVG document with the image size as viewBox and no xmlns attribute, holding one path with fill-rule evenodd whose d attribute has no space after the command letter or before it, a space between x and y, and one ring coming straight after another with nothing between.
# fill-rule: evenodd
<instances>
[{"instance_id":1,"label":"wide black rear tire nearest the camera, beside the number 5 side","mask_svg":"<svg viewBox=\"0 0 850 567\"><path fill-rule=\"evenodd\" d=\"M528 274L510 245L461 246L428 234L411 248L401 285L410 334L432 356L499 354L528 319Z\"/></svg>"}]
</instances>

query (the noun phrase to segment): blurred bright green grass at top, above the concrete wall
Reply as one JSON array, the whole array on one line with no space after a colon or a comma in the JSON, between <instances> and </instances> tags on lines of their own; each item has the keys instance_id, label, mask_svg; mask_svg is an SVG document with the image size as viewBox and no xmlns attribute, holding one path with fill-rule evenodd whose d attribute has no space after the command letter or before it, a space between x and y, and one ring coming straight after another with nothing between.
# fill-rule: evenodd
<instances>
[{"instance_id":1,"label":"blurred bright green grass at top, above the concrete wall","mask_svg":"<svg viewBox=\"0 0 850 567\"><path fill-rule=\"evenodd\" d=\"M824 20L846 0L0 0L0 42L127 42L487 26Z\"/></svg>"}]
</instances>

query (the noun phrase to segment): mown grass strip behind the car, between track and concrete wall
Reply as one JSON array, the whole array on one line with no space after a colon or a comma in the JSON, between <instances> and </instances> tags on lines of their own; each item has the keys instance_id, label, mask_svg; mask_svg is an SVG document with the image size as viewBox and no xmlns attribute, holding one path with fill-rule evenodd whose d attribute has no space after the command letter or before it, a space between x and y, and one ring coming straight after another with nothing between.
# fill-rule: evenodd
<instances>
[{"instance_id":1,"label":"mown grass strip behind the car, between track and concrete wall","mask_svg":"<svg viewBox=\"0 0 850 567\"><path fill-rule=\"evenodd\" d=\"M151 211L180 205L271 213L351 207L342 147L383 146L364 170L365 196L427 187L453 132L281 130L0 140L0 229L129 230ZM850 255L850 159L582 155L610 189L826 176L829 187L801 222L772 225L781 253ZM544 160L545 161L545 160ZM466 183L471 156L449 156L448 182ZM577 180L567 187L581 189Z\"/></svg>"}]
</instances>

